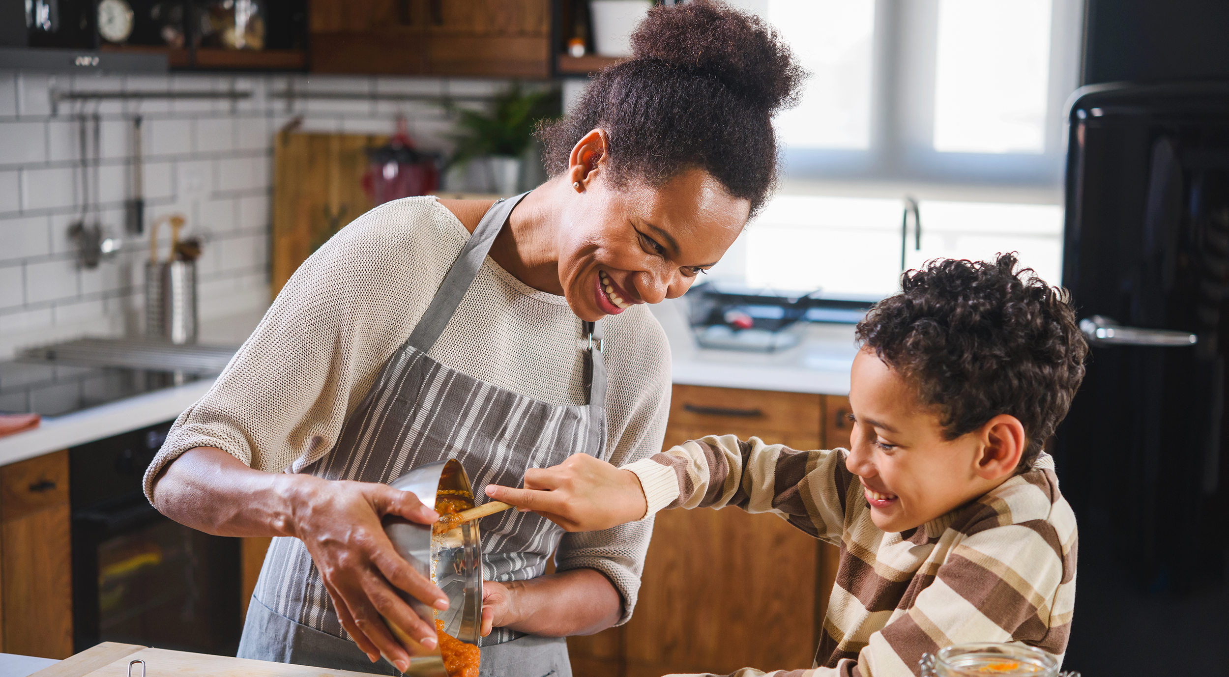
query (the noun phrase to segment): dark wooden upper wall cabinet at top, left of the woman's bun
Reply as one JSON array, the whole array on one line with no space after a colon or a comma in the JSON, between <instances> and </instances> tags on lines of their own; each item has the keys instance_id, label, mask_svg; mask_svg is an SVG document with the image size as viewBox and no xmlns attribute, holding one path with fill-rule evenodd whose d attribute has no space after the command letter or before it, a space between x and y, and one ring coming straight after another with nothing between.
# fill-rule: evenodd
<instances>
[{"instance_id":1,"label":"dark wooden upper wall cabinet at top, left of the woman's bun","mask_svg":"<svg viewBox=\"0 0 1229 677\"><path fill-rule=\"evenodd\" d=\"M315 0L313 72L551 76L549 0Z\"/></svg>"}]
</instances>

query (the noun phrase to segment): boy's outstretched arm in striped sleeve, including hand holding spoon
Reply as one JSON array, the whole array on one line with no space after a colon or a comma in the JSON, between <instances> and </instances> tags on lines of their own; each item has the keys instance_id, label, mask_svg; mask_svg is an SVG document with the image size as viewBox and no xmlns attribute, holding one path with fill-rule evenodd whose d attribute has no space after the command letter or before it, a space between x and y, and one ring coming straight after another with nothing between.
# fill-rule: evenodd
<instances>
[{"instance_id":1,"label":"boy's outstretched arm in striped sleeve, including hand holding spoon","mask_svg":"<svg viewBox=\"0 0 1229 677\"><path fill-rule=\"evenodd\" d=\"M709 435L616 468L576 455L530 469L525 488L487 487L487 495L532 510L568 531L640 520L664 507L773 512L803 531L837 541L853 475L839 451L794 451L758 437Z\"/></svg>"}]
</instances>

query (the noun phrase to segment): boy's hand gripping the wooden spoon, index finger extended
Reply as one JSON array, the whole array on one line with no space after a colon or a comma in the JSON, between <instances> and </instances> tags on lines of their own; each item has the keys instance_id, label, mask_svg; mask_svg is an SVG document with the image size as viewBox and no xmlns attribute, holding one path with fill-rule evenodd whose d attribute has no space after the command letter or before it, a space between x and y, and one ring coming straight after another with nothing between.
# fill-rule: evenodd
<instances>
[{"instance_id":1,"label":"boy's hand gripping the wooden spoon, index finger extended","mask_svg":"<svg viewBox=\"0 0 1229 677\"><path fill-rule=\"evenodd\" d=\"M578 453L549 468L525 471L525 488L492 484L487 495L559 525L564 531L599 531L634 522L649 510L640 478L632 471Z\"/></svg>"}]
</instances>

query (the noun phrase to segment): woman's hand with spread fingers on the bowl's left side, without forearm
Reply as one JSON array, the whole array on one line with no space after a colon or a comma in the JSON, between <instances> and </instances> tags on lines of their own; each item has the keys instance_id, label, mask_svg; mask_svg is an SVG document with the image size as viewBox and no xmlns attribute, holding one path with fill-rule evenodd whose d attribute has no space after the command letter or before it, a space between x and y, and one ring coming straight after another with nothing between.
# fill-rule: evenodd
<instances>
[{"instance_id":1,"label":"woman's hand with spread fingers on the bowl's left side, without forearm","mask_svg":"<svg viewBox=\"0 0 1229 677\"><path fill-rule=\"evenodd\" d=\"M386 622L428 649L435 646L436 635L434 625L423 620L396 589L438 609L447 608L449 601L429 577L397 554L381 517L398 515L429 525L439 515L414 494L386 484L312 479L291 494L291 534L304 542L316 563L345 632L372 662L383 654L404 672L409 670L409 654Z\"/></svg>"}]
</instances>

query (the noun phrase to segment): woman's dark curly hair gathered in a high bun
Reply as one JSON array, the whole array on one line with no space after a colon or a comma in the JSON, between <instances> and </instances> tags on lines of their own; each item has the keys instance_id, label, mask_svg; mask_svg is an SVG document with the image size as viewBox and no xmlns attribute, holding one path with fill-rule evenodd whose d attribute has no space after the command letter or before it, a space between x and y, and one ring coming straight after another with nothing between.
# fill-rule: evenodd
<instances>
[{"instance_id":1,"label":"woman's dark curly hair gathered in a high bun","mask_svg":"<svg viewBox=\"0 0 1229 677\"><path fill-rule=\"evenodd\" d=\"M547 172L606 131L606 176L661 186L692 168L763 205L777 183L772 115L793 106L806 71L761 18L717 0L661 5L632 33L633 54L599 71L573 111L538 128Z\"/></svg>"}]
</instances>

